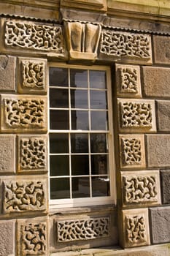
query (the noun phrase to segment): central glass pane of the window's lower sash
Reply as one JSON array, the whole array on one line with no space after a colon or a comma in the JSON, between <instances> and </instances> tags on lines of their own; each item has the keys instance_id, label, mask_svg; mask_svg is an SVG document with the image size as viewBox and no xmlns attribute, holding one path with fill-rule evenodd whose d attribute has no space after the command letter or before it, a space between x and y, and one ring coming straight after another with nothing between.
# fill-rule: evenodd
<instances>
[{"instance_id":1,"label":"central glass pane of the window's lower sash","mask_svg":"<svg viewBox=\"0 0 170 256\"><path fill-rule=\"evenodd\" d=\"M72 175L89 175L88 156L72 155Z\"/></svg>"}]
</instances>

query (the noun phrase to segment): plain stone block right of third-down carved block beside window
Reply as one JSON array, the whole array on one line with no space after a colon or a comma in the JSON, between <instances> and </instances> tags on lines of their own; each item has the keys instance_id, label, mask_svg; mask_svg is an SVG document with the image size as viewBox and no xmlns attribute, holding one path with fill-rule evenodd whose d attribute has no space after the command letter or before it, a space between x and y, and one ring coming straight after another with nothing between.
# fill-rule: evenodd
<instances>
[{"instance_id":1,"label":"plain stone block right of third-down carved block beside window","mask_svg":"<svg viewBox=\"0 0 170 256\"><path fill-rule=\"evenodd\" d=\"M170 167L170 135L146 135L148 167Z\"/></svg>"}]
</instances>

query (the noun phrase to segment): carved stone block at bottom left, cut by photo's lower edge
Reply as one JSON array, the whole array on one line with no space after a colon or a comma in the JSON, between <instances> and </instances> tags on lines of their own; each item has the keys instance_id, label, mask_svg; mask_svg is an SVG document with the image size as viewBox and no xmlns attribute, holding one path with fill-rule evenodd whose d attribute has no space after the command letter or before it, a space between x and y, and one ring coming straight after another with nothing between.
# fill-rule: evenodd
<instances>
[{"instance_id":1,"label":"carved stone block at bottom left, cut by photo's lower edge","mask_svg":"<svg viewBox=\"0 0 170 256\"><path fill-rule=\"evenodd\" d=\"M18 256L47 255L47 222L20 220L17 236Z\"/></svg>"}]
</instances>

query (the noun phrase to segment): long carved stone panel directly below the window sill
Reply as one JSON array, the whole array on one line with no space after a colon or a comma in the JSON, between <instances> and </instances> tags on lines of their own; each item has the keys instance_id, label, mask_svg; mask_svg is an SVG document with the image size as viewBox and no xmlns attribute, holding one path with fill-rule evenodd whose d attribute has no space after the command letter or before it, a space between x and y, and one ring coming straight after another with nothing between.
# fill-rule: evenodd
<instances>
[{"instance_id":1,"label":"long carved stone panel directly below the window sill","mask_svg":"<svg viewBox=\"0 0 170 256\"><path fill-rule=\"evenodd\" d=\"M109 236L109 217L58 221L57 241L78 241Z\"/></svg>"}]
</instances>

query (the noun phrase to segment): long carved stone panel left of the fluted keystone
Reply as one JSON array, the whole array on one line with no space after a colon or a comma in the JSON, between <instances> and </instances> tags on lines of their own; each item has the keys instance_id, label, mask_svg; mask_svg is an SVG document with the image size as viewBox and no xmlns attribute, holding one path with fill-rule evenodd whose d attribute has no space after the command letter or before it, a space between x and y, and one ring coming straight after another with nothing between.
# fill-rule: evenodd
<instances>
[{"instance_id":1,"label":"long carved stone panel left of the fluted keystone","mask_svg":"<svg viewBox=\"0 0 170 256\"><path fill-rule=\"evenodd\" d=\"M9 20L5 23L4 33L5 45L10 47L64 52L61 26Z\"/></svg>"}]
</instances>

